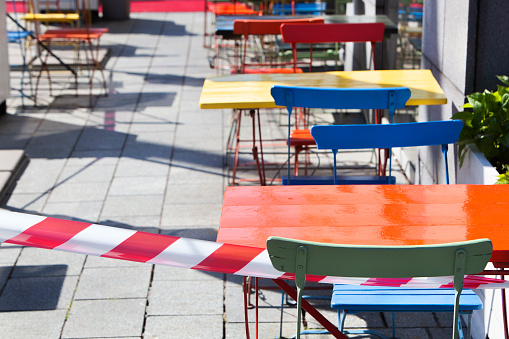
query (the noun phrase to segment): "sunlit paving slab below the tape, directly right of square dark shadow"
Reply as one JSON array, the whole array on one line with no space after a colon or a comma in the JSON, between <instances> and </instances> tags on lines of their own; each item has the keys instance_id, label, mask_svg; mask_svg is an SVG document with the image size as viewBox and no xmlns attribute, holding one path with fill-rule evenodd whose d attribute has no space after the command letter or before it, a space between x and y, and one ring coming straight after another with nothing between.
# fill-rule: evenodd
<instances>
[{"instance_id":1,"label":"sunlit paving slab below the tape, directly right of square dark shadow","mask_svg":"<svg viewBox=\"0 0 509 339\"><path fill-rule=\"evenodd\" d=\"M151 275L151 265L86 268L74 299L146 298Z\"/></svg>"}]
</instances>

